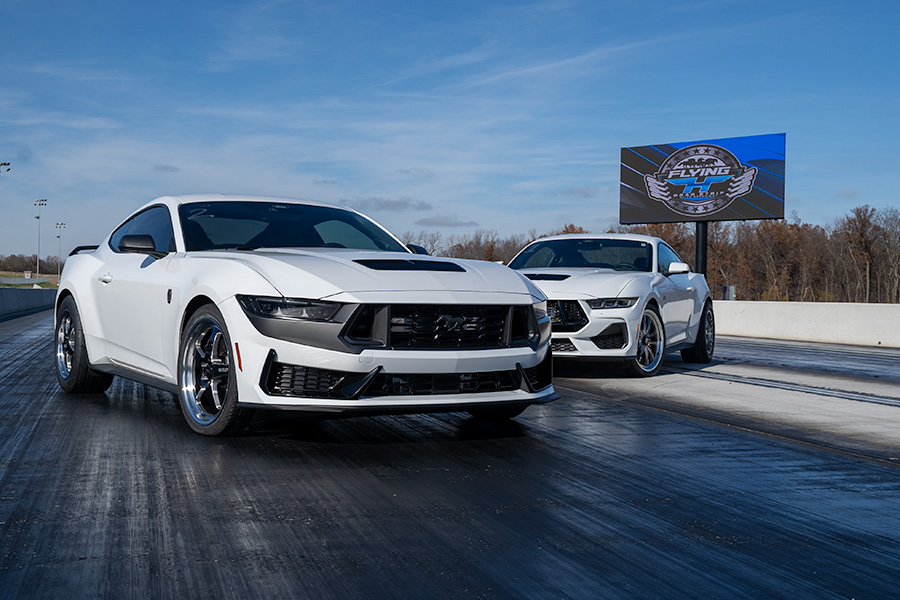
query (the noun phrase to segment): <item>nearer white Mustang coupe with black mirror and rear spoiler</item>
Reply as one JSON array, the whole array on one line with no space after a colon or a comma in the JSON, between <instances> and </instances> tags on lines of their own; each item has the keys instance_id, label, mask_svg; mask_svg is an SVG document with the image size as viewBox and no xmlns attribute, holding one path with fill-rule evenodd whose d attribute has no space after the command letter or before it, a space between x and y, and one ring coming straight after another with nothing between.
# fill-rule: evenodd
<instances>
[{"instance_id":1,"label":"nearer white Mustang coupe with black mirror and rear spoiler","mask_svg":"<svg viewBox=\"0 0 900 600\"><path fill-rule=\"evenodd\" d=\"M415 250L336 206L159 198L66 261L59 383L169 390L206 435L257 408L511 418L555 399L544 295L502 265Z\"/></svg>"}]
</instances>

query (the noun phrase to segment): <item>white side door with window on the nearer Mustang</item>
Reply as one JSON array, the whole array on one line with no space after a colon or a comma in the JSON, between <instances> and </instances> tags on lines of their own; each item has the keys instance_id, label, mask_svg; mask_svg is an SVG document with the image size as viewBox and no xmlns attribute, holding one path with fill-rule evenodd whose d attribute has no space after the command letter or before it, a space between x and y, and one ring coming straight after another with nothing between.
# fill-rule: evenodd
<instances>
[{"instance_id":1,"label":"white side door with window on the nearer Mustang","mask_svg":"<svg viewBox=\"0 0 900 600\"><path fill-rule=\"evenodd\" d=\"M126 235L149 235L162 258L124 252ZM159 378L172 374L162 362L161 313L166 306L166 269L175 249L172 219L165 206L150 207L113 232L94 285L109 357Z\"/></svg>"}]
</instances>

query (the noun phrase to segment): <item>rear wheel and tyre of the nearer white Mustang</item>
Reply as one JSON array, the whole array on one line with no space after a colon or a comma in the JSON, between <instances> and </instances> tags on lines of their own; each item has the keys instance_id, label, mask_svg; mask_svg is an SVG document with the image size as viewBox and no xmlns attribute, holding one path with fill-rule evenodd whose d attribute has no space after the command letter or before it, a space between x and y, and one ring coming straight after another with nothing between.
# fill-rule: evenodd
<instances>
[{"instance_id":1,"label":"rear wheel and tyre of the nearer white Mustang","mask_svg":"<svg viewBox=\"0 0 900 600\"><path fill-rule=\"evenodd\" d=\"M102 394L109 389L113 376L91 368L88 362L81 317L72 296L56 311L56 379L70 394Z\"/></svg>"}]
</instances>

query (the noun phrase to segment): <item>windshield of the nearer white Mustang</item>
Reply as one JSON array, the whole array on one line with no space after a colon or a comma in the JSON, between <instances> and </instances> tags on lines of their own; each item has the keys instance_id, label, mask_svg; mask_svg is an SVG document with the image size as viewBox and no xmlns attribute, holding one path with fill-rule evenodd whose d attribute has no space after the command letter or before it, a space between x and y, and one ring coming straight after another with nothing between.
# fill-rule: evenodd
<instances>
[{"instance_id":1,"label":"windshield of the nearer white Mustang","mask_svg":"<svg viewBox=\"0 0 900 600\"><path fill-rule=\"evenodd\" d=\"M408 250L354 212L280 202L195 202L178 207L185 249L354 248Z\"/></svg>"}]
</instances>

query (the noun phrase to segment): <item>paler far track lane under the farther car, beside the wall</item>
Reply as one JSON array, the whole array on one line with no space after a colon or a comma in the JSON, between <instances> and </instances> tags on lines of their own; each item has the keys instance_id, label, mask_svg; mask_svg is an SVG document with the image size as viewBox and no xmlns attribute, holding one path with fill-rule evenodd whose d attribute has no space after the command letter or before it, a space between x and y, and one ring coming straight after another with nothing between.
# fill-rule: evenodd
<instances>
[{"instance_id":1,"label":"paler far track lane under the farther car, beside the wall","mask_svg":"<svg viewBox=\"0 0 900 600\"><path fill-rule=\"evenodd\" d=\"M852 361L838 361L840 347L826 347L821 352L823 362L830 362L829 372L816 372L811 368L816 364L816 349L810 345L804 344L804 352L798 354L791 350L791 342L738 338L728 342L722 344L725 348L717 348L709 365L687 364L677 355L669 356L660 373L646 379L626 377L613 363L558 360L555 386L562 393L593 394L900 462L900 373L895 372L900 371L900 351L873 349L875 364L861 372ZM773 353L773 347L780 354Z\"/></svg>"}]
</instances>

